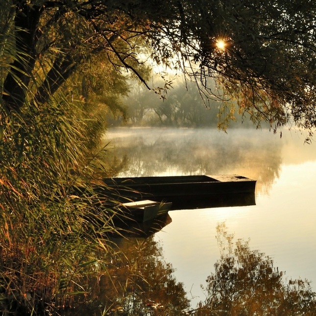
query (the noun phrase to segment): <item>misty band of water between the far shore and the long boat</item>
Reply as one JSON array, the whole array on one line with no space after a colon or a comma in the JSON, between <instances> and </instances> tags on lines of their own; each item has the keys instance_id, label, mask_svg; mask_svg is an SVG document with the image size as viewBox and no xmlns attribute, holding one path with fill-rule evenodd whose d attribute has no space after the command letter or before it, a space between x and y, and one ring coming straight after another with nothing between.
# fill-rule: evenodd
<instances>
[{"instance_id":1,"label":"misty band of water between the far shore and the long boat","mask_svg":"<svg viewBox=\"0 0 316 316\"><path fill-rule=\"evenodd\" d=\"M298 133L283 137L268 130L189 128L114 128L110 164L116 176L237 173L264 190L278 178L282 163L315 159L315 148ZM110 160L111 160L110 158Z\"/></svg>"}]
</instances>

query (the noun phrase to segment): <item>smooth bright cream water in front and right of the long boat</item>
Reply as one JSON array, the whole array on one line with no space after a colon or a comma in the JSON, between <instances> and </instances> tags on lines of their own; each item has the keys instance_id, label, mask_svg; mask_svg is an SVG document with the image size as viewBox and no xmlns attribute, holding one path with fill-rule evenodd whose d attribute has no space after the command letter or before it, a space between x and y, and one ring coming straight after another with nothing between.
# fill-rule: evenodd
<instances>
[{"instance_id":1,"label":"smooth bright cream water in front and right of the long boat","mask_svg":"<svg viewBox=\"0 0 316 316\"><path fill-rule=\"evenodd\" d=\"M257 196L256 206L170 212L172 223L156 238L177 268L177 279L203 299L199 285L219 258L215 226L225 221L230 233L249 238L250 246L271 256L286 276L315 282L315 179L316 162L283 166L269 195Z\"/></svg>"}]
</instances>

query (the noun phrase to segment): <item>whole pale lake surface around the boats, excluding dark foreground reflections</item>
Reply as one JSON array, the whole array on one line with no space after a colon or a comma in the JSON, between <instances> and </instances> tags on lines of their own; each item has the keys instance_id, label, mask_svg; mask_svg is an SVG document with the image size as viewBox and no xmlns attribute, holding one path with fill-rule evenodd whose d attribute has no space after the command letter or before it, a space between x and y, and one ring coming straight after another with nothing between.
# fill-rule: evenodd
<instances>
[{"instance_id":1,"label":"whole pale lake surface around the boats, excluding dark foreground reflections","mask_svg":"<svg viewBox=\"0 0 316 316\"><path fill-rule=\"evenodd\" d=\"M164 257L183 282L192 306L205 298L200 285L219 259L216 226L249 240L316 291L316 144L304 136L268 130L114 128L106 135L116 176L240 174L257 180L256 205L172 211L155 234Z\"/></svg>"}]
</instances>

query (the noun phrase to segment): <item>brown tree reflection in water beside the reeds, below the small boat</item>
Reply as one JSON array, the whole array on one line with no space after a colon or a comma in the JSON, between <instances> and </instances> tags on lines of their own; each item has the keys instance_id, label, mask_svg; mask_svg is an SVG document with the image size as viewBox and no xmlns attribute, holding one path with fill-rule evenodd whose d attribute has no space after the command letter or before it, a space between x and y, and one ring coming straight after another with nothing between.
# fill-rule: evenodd
<instances>
[{"instance_id":1,"label":"brown tree reflection in water beside the reeds, below the small boat","mask_svg":"<svg viewBox=\"0 0 316 316\"><path fill-rule=\"evenodd\" d=\"M178 316L189 307L182 283L152 236L112 239L112 247L112 265L101 267L97 277L87 277L90 294L65 315Z\"/></svg>"}]
</instances>

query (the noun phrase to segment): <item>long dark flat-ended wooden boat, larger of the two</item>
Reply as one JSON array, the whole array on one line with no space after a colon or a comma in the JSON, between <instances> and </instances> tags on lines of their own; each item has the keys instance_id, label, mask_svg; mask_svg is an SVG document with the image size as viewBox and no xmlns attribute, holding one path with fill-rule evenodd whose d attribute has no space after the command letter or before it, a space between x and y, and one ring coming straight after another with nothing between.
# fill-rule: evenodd
<instances>
[{"instance_id":1,"label":"long dark flat-ended wooden boat, larger of the two","mask_svg":"<svg viewBox=\"0 0 316 316\"><path fill-rule=\"evenodd\" d=\"M171 202L173 210L255 204L256 181L236 174L105 178L103 182L112 198L122 203Z\"/></svg>"}]
</instances>

